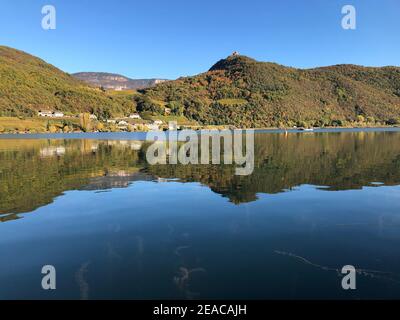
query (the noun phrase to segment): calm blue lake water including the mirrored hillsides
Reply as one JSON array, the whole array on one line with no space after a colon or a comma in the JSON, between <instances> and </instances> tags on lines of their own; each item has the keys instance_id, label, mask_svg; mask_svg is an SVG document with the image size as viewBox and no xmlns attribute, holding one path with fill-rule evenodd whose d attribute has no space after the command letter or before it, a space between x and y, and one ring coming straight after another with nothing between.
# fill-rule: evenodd
<instances>
[{"instance_id":1,"label":"calm blue lake water including the mirrored hillsides","mask_svg":"<svg viewBox=\"0 0 400 320\"><path fill-rule=\"evenodd\" d=\"M243 177L141 139L0 137L0 299L400 298L399 131L258 133Z\"/></svg>"}]
</instances>

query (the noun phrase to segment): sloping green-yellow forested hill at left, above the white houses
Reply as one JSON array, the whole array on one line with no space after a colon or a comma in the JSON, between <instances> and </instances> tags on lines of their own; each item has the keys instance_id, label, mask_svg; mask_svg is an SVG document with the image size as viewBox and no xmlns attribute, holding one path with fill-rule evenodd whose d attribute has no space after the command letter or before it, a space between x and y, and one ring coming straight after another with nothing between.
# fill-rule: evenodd
<instances>
[{"instance_id":1,"label":"sloping green-yellow forested hill at left, above the white houses","mask_svg":"<svg viewBox=\"0 0 400 320\"><path fill-rule=\"evenodd\" d=\"M25 52L0 46L0 116L33 116L38 110L124 114L125 97L107 95Z\"/></svg>"}]
</instances>

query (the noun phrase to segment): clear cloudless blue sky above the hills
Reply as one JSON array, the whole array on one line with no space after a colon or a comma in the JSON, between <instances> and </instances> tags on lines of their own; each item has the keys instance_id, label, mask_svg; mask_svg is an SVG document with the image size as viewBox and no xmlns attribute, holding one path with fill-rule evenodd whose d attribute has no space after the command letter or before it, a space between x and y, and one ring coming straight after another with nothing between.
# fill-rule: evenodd
<instances>
[{"instance_id":1,"label":"clear cloudless blue sky above the hills","mask_svg":"<svg viewBox=\"0 0 400 320\"><path fill-rule=\"evenodd\" d=\"M41 9L57 9L57 29ZM354 5L357 29L341 27ZM177 78L208 70L237 50L309 68L400 65L399 0L1 0L0 45L66 72Z\"/></svg>"}]
</instances>

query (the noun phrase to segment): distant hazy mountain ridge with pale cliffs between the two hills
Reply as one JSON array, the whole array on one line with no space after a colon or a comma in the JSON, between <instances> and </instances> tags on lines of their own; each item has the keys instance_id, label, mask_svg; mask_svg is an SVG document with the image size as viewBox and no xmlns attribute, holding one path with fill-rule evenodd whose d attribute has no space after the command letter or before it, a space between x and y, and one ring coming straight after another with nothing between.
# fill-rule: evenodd
<instances>
[{"instance_id":1,"label":"distant hazy mountain ridge with pale cliffs between the two hills","mask_svg":"<svg viewBox=\"0 0 400 320\"><path fill-rule=\"evenodd\" d=\"M78 72L73 77L95 87L106 90L132 90L154 87L166 79L130 79L120 74L107 72Z\"/></svg>"}]
</instances>

